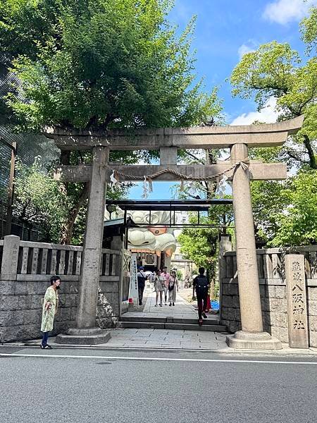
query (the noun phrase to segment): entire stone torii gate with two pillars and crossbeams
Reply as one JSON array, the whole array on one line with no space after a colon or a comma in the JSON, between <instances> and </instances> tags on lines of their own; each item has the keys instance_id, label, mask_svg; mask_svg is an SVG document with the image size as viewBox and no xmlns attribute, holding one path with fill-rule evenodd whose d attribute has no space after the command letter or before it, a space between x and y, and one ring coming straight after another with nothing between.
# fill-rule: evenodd
<instances>
[{"instance_id":1,"label":"entire stone torii gate with two pillars and crossbeams","mask_svg":"<svg viewBox=\"0 0 317 423\"><path fill-rule=\"evenodd\" d=\"M286 165L249 161L248 148L280 146L288 135L297 133L302 122L301 116L263 125L142 129L133 135L123 130L109 133L48 130L46 136L53 138L61 150L92 151L92 165L61 166L55 175L56 179L65 182L90 182L76 327L61 335L63 343L104 343L108 336L97 328L96 308L106 183L111 173L124 174L124 180L144 180L144 176L157 172L160 174L156 180L211 180L230 169L227 176L232 179L242 330L228 336L227 343L233 348L280 349L280 341L263 332L249 180L285 179ZM178 149L228 147L230 161L207 165L176 164ZM159 150L160 164L123 166L108 161L110 150L141 149Z\"/></svg>"}]
</instances>

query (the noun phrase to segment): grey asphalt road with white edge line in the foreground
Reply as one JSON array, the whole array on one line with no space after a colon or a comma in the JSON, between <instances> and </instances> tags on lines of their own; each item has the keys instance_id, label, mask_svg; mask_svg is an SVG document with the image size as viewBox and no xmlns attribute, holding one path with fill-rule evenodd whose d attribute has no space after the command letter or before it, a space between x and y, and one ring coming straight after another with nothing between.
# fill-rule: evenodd
<instances>
[{"instance_id":1,"label":"grey asphalt road with white edge line in the foreground","mask_svg":"<svg viewBox=\"0 0 317 423\"><path fill-rule=\"evenodd\" d=\"M316 356L0 347L1 423L315 423L316 394Z\"/></svg>"}]
</instances>

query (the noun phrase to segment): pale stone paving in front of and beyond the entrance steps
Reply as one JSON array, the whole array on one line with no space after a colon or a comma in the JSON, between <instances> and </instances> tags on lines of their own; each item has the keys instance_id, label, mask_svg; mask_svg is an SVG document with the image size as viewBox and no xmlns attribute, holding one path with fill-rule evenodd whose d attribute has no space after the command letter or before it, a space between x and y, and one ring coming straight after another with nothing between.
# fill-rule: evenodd
<instances>
[{"instance_id":1,"label":"pale stone paving in front of and beyond the entrance steps","mask_svg":"<svg viewBox=\"0 0 317 423\"><path fill-rule=\"evenodd\" d=\"M184 319L197 319L197 311L194 305L183 300L177 295L175 307L163 305L154 307L155 293L148 293L144 309L140 312L128 312L125 316L130 317L175 317ZM209 319L217 319L214 314L208 315ZM63 345L55 343L55 337L49 338L49 344L53 348L85 348L85 349L120 349L123 350L196 350L211 351L224 354L251 354L251 355L317 355L317 348L307 350L290 348L288 344L282 344L282 350L235 350L225 343L228 333L213 331L185 331L170 329L109 329L111 339L106 344L99 345ZM39 346L41 339L6 343L4 345Z\"/></svg>"}]
</instances>

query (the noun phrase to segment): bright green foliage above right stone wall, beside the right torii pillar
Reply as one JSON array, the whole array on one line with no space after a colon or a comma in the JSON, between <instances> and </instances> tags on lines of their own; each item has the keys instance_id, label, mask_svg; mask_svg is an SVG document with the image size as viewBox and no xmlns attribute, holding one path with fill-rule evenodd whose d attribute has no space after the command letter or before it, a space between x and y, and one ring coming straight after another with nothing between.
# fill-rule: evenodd
<instances>
[{"instance_id":1,"label":"bright green foliage above right stone wall, beside the right torii pillar","mask_svg":"<svg viewBox=\"0 0 317 423\"><path fill-rule=\"evenodd\" d=\"M317 172L302 169L284 183L253 182L254 221L268 246L317 243Z\"/></svg>"}]
</instances>

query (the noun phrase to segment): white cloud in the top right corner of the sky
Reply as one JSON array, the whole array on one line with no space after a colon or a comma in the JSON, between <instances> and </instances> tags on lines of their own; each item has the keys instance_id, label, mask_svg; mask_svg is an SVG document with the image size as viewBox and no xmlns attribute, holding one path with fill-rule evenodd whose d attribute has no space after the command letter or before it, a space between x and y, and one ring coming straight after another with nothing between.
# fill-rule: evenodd
<instances>
[{"instance_id":1,"label":"white cloud in the top right corner of the sky","mask_svg":"<svg viewBox=\"0 0 317 423\"><path fill-rule=\"evenodd\" d=\"M292 20L301 20L316 0L275 0L266 5L263 18L285 25Z\"/></svg>"}]
</instances>

